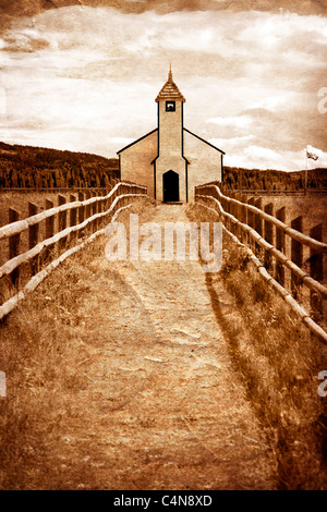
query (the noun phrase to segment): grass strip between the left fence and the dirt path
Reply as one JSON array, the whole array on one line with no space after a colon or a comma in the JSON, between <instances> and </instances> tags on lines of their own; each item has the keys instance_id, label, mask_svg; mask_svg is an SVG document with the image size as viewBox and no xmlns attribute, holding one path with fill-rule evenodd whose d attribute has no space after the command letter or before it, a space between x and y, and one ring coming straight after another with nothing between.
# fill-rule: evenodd
<instances>
[{"instance_id":1,"label":"grass strip between the left fence and the dirt path","mask_svg":"<svg viewBox=\"0 0 327 512\"><path fill-rule=\"evenodd\" d=\"M98 251L100 241L65 261L2 326L0 362L8 392L0 398L2 489L77 488L85 476L96 487L83 461L95 447L85 447L85 456L77 459L70 438L73 423L88 419L81 402L89 392L82 321L92 289L82 276Z\"/></svg>"}]
</instances>

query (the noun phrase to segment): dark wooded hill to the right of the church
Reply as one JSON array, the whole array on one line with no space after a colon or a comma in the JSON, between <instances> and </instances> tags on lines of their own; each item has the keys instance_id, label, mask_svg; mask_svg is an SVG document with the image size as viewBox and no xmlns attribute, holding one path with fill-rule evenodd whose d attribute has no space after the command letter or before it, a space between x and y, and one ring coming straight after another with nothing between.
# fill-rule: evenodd
<instances>
[{"instance_id":1,"label":"dark wooded hill to the right of the church","mask_svg":"<svg viewBox=\"0 0 327 512\"><path fill-rule=\"evenodd\" d=\"M305 172L225 167L223 183L230 190L300 191L305 186ZM310 169L307 187L327 190L327 169Z\"/></svg>"}]
</instances>

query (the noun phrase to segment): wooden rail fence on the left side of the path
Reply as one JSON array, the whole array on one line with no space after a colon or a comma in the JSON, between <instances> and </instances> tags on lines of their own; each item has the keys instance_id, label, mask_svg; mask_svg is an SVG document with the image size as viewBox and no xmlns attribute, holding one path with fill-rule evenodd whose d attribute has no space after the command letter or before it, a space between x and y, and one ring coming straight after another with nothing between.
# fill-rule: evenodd
<instances>
[{"instance_id":1,"label":"wooden rail fence on the left side of the path","mask_svg":"<svg viewBox=\"0 0 327 512\"><path fill-rule=\"evenodd\" d=\"M0 267L0 319L58 265L104 234L119 211L131 206L135 198L146 196L146 187L120 182L107 195L89 196L90 192L71 194L66 203L59 195L58 206L47 200L47 209L39 214L38 207L29 203L28 217L22 220L16 210L9 209L10 223L0 228L0 243L8 245L8 260ZM25 244L21 243L23 233L27 233ZM9 295L13 296L9 298Z\"/></svg>"}]
</instances>

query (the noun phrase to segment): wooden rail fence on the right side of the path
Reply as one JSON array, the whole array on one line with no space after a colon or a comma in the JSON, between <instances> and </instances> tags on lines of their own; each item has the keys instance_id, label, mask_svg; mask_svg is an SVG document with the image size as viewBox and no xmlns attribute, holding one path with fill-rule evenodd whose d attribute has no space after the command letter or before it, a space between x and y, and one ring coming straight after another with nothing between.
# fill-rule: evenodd
<instances>
[{"instance_id":1,"label":"wooden rail fence on the right side of the path","mask_svg":"<svg viewBox=\"0 0 327 512\"><path fill-rule=\"evenodd\" d=\"M303 322L324 342L327 288L324 285L323 224L303 234L303 219L286 223L286 208L275 212L274 204L263 208L262 198L230 193L217 185L195 187L195 202L205 206L223 223L225 232L246 248L250 260L262 277L288 302ZM304 258L304 252L308 257Z\"/></svg>"}]
</instances>

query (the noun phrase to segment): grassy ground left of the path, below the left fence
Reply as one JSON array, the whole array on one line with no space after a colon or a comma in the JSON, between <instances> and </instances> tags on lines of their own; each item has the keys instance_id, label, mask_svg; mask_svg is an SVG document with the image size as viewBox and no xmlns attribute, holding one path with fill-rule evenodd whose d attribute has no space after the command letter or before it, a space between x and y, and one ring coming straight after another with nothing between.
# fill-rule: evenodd
<instances>
[{"instance_id":1,"label":"grassy ground left of the path, below the left fence","mask_svg":"<svg viewBox=\"0 0 327 512\"><path fill-rule=\"evenodd\" d=\"M132 211L143 208L140 200ZM101 356L117 346L110 316L124 306L109 264L95 270L106 241L99 236L64 261L1 325L1 489L110 488L96 410L108 403L108 389L95 382L110 378L114 395ZM116 330L123 339L123 327Z\"/></svg>"}]
</instances>

